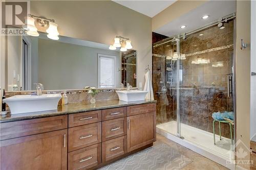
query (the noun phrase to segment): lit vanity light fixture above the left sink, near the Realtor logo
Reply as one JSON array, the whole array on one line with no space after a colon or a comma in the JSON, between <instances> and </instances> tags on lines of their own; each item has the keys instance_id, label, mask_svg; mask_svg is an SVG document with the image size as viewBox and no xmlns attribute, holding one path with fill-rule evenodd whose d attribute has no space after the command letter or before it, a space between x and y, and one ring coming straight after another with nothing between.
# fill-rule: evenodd
<instances>
[{"instance_id":1,"label":"lit vanity light fixture above the left sink, near the Realtor logo","mask_svg":"<svg viewBox=\"0 0 256 170\"><path fill-rule=\"evenodd\" d=\"M37 28L35 27L35 21L40 27L48 27L46 32L48 33L47 37L53 40L58 40L59 33L57 30L57 23L53 19L47 19L44 17L39 17L29 14L25 17L25 25L23 28L27 30L27 34L31 36L39 36Z\"/></svg>"}]
</instances>

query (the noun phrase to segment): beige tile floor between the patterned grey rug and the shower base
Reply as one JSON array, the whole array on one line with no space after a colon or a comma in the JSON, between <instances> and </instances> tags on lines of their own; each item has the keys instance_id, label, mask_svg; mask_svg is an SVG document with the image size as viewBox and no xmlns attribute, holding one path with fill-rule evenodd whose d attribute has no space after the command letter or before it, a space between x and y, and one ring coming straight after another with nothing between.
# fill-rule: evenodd
<instances>
[{"instance_id":1,"label":"beige tile floor between the patterned grey rug and the shower base","mask_svg":"<svg viewBox=\"0 0 256 170\"><path fill-rule=\"evenodd\" d=\"M210 170L215 170L215 169L219 170L220 169L220 170L222 170L222 169L227 169L226 167L224 167L214 161L211 161L210 159L205 158L205 157L197 154L196 152L193 152L193 151L183 147L182 145L163 137L162 135L157 134L157 140L168 144L170 147L179 151L182 155L193 160L193 162L184 166L182 168L182 170L190 170L190 169L191 170L195 170L195 169L197 169L197 170L200 170L200 169L202 169L202 170L205 170L205 169L210 169Z\"/></svg>"}]
</instances>

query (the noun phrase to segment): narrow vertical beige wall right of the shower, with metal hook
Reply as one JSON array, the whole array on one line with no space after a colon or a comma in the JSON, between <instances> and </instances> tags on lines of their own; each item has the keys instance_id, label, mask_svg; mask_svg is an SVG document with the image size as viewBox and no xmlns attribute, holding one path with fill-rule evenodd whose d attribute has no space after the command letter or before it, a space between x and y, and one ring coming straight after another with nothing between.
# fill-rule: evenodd
<instances>
[{"instance_id":1,"label":"narrow vertical beige wall right of the shower, with metal hook","mask_svg":"<svg viewBox=\"0 0 256 170\"><path fill-rule=\"evenodd\" d=\"M237 1L236 20L237 141L250 148L250 48L240 49L241 39L250 43L250 1ZM250 160L250 154L243 160Z\"/></svg>"}]
</instances>

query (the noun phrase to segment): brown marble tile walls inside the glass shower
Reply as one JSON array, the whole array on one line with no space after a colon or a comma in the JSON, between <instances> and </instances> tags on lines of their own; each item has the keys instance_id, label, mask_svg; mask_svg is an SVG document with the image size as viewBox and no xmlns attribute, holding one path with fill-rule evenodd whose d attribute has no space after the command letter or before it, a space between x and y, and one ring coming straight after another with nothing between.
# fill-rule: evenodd
<instances>
[{"instance_id":1,"label":"brown marble tile walls inside the glass shower","mask_svg":"<svg viewBox=\"0 0 256 170\"><path fill-rule=\"evenodd\" d=\"M232 73L233 62L233 21L225 23L224 26L224 29L216 26L188 35L186 39L182 39L180 42L180 52L187 56L186 60L180 60L181 122L208 132L212 132L212 113L233 111L233 99L228 97L227 93L227 76ZM226 47L211 50L223 46ZM166 43L154 47L153 54L169 56L168 53L175 50L174 44ZM202 51L207 52L200 54ZM198 58L206 59L208 63L191 64ZM168 62L170 61L164 57L153 56L154 92L161 90L160 81L165 82L169 89L167 84L169 72L172 72L176 78L176 65L174 64L173 71L168 71L166 70L169 67ZM218 63L220 66L216 67ZM166 94L167 99L169 99L168 106L161 97L163 94L155 96L158 100L158 124L176 120L176 95L170 97L169 93ZM217 123L215 126L216 133L219 133ZM230 137L227 124L221 124L221 132L223 136Z\"/></svg>"}]
</instances>

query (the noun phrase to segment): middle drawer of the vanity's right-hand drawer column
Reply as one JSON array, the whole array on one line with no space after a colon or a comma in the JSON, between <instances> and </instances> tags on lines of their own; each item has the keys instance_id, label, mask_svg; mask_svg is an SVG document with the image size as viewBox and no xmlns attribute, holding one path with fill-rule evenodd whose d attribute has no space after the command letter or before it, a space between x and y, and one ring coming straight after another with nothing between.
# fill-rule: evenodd
<instances>
[{"instance_id":1,"label":"middle drawer of the vanity's right-hand drawer column","mask_svg":"<svg viewBox=\"0 0 256 170\"><path fill-rule=\"evenodd\" d=\"M126 117L102 122L102 141L126 135Z\"/></svg>"}]
</instances>

